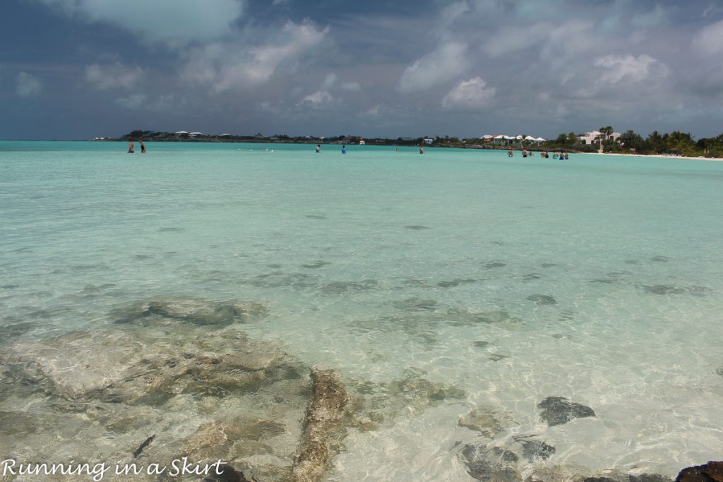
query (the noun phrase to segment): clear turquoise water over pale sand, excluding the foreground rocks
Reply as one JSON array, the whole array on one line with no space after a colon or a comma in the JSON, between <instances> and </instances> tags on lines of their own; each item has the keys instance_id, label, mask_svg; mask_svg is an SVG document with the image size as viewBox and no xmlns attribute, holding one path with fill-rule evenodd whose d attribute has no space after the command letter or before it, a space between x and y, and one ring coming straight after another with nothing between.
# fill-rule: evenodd
<instances>
[{"instance_id":1,"label":"clear turquoise water over pale sand, excluding the foreground rocks","mask_svg":"<svg viewBox=\"0 0 723 482\"><path fill-rule=\"evenodd\" d=\"M254 301L269 315L245 332L350 387L411 373L457 390L351 429L338 481L471 480L454 449L480 406L511 421L491 444L555 446L523 475L674 476L723 451L723 163L125 147L0 142L0 344L153 297ZM549 396L596 416L547 426Z\"/></svg>"}]
</instances>

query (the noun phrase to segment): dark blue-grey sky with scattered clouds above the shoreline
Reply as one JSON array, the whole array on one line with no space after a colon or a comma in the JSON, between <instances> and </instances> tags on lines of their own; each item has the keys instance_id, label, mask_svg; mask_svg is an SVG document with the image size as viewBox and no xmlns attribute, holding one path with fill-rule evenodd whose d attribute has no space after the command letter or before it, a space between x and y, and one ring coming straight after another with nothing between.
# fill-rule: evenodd
<instances>
[{"instance_id":1,"label":"dark blue-grey sky with scattered clouds above the shoreline","mask_svg":"<svg viewBox=\"0 0 723 482\"><path fill-rule=\"evenodd\" d=\"M0 0L0 139L723 132L723 1Z\"/></svg>"}]
</instances>

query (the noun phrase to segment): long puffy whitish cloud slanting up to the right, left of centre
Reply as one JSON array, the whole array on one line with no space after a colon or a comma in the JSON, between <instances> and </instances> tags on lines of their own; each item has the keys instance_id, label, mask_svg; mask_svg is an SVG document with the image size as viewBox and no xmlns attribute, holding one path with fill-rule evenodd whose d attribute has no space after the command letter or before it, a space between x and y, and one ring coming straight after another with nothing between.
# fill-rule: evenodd
<instances>
[{"instance_id":1,"label":"long puffy whitish cloud slanting up to the right, left of centre","mask_svg":"<svg viewBox=\"0 0 723 482\"><path fill-rule=\"evenodd\" d=\"M249 47L243 41L210 43L189 51L181 74L189 82L210 85L213 93L254 87L268 82L282 65L293 69L328 32L328 27L319 30L309 21L286 22L278 37L265 45Z\"/></svg>"}]
</instances>

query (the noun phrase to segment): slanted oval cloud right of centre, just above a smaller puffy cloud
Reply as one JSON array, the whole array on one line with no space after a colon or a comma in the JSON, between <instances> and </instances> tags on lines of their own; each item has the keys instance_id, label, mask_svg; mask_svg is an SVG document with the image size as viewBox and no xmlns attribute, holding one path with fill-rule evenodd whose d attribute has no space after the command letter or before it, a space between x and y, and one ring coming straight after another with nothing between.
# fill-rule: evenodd
<instances>
[{"instance_id":1,"label":"slanted oval cloud right of centre, just above a smaller puffy cloud","mask_svg":"<svg viewBox=\"0 0 723 482\"><path fill-rule=\"evenodd\" d=\"M466 71L469 59L465 43L443 43L437 50L414 61L402 73L397 90L404 94L422 92L458 77Z\"/></svg>"}]
</instances>

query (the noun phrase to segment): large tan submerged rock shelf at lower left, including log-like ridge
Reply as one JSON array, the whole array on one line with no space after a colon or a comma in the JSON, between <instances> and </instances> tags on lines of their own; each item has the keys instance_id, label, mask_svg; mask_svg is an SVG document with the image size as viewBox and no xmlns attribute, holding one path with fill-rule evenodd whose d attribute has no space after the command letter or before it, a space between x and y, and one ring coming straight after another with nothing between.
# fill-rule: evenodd
<instances>
[{"instance_id":1,"label":"large tan submerged rock shelf at lower left, including log-like ridge","mask_svg":"<svg viewBox=\"0 0 723 482\"><path fill-rule=\"evenodd\" d=\"M164 313L187 312L174 305ZM324 473L346 422L338 413L348 394L332 374L314 371L312 381L309 368L278 346L235 330L115 324L0 346L0 361L4 403L33 403L32 417L20 408L0 411L3 444L29 460L224 460L228 471L209 480L286 482L294 480L294 460L297 472ZM296 459L299 452L305 455Z\"/></svg>"}]
</instances>

